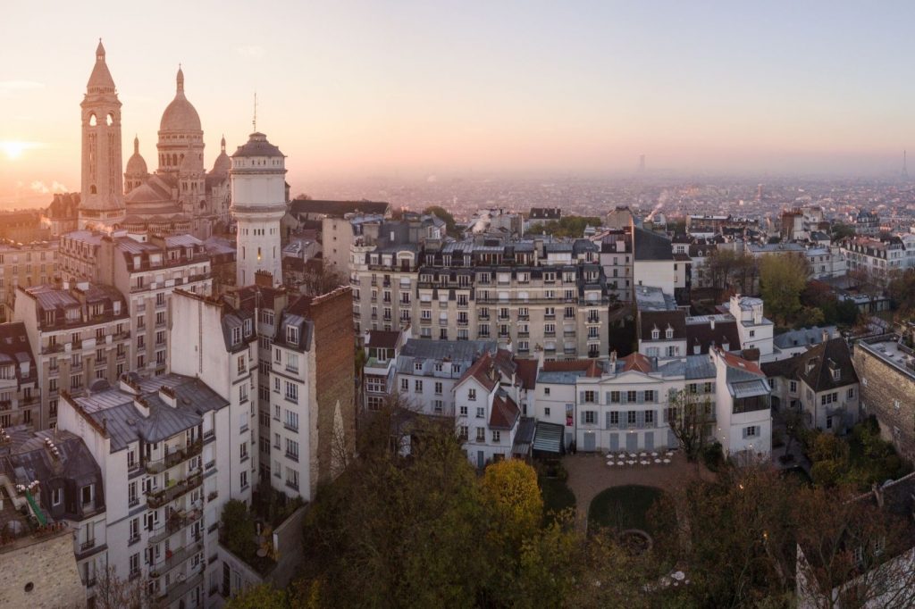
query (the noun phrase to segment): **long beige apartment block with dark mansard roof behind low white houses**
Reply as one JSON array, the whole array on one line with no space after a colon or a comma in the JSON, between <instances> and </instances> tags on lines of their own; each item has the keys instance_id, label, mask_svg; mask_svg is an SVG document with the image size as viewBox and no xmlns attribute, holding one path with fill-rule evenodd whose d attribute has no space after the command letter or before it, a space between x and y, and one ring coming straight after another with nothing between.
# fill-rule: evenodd
<instances>
[{"instance_id":1,"label":"long beige apartment block with dark mansard roof behind low white houses","mask_svg":"<svg viewBox=\"0 0 915 609\"><path fill-rule=\"evenodd\" d=\"M422 225L437 231L435 225ZM393 233L392 233L393 234ZM496 340L520 357L607 356L607 282L588 240L353 246L357 329L411 324L414 336Z\"/></svg>"}]
</instances>

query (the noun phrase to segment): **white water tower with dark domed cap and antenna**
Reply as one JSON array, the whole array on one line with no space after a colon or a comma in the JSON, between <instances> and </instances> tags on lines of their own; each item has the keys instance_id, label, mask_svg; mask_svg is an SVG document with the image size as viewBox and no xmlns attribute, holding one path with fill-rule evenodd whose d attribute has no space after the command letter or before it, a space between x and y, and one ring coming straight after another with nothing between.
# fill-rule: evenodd
<instances>
[{"instance_id":1,"label":"white water tower with dark domed cap and antenna","mask_svg":"<svg viewBox=\"0 0 915 609\"><path fill-rule=\"evenodd\" d=\"M280 220L286 211L285 155L253 133L231 155L231 214L238 222L235 281L254 283L254 272L273 273L283 283Z\"/></svg>"}]
</instances>

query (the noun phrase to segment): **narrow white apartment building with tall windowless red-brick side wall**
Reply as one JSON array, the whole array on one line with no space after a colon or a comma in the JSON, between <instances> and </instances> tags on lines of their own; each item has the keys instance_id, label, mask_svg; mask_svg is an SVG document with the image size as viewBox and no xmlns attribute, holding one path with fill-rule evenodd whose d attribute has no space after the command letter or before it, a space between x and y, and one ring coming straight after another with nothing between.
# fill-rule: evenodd
<instances>
[{"instance_id":1,"label":"narrow white apartment building with tall windowless red-brick side wall","mask_svg":"<svg viewBox=\"0 0 915 609\"><path fill-rule=\"evenodd\" d=\"M310 500L355 448L355 337L349 287L299 296L275 318L271 340L271 485Z\"/></svg>"}]
</instances>

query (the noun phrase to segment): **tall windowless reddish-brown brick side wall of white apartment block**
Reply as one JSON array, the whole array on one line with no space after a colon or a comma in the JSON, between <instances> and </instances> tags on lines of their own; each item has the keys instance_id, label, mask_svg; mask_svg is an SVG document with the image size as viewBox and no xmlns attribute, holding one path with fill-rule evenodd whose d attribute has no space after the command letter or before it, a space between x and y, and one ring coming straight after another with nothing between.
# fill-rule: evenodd
<instances>
[{"instance_id":1,"label":"tall windowless reddish-brown brick side wall of white apartment block","mask_svg":"<svg viewBox=\"0 0 915 609\"><path fill-rule=\"evenodd\" d=\"M355 448L356 391L354 369L356 337L352 327L352 290L349 286L318 296L308 315L315 325L316 395L318 421L318 476L312 486L328 479L339 465L340 450ZM339 411L339 418L337 412ZM342 438L335 437L335 418ZM314 463L314 461L312 462Z\"/></svg>"}]
</instances>

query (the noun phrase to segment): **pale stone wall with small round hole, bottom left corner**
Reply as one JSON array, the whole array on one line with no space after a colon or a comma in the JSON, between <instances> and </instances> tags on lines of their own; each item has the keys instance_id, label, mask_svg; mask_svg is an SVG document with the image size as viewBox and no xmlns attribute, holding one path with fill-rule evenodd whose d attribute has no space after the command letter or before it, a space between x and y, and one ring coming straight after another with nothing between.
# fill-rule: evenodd
<instances>
[{"instance_id":1,"label":"pale stone wall with small round hole, bottom left corner","mask_svg":"<svg viewBox=\"0 0 915 609\"><path fill-rule=\"evenodd\" d=\"M25 538L0 550L0 607L85 606L70 530L42 540Z\"/></svg>"}]
</instances>

